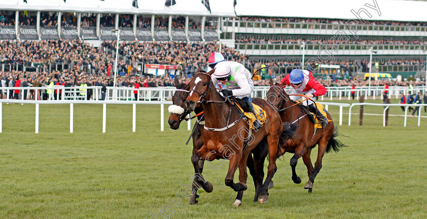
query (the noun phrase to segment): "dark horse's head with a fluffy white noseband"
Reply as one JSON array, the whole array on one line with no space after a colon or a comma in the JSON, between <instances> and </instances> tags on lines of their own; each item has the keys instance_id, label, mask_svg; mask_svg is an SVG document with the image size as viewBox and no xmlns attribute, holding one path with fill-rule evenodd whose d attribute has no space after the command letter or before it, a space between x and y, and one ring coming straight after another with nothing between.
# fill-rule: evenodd
<instances>
[{"instance_id":1,"label":"dark horse's head with a fluffy white noseband","mask_svg":"<svg viewBox=\"0 0 427 219\"><path fill-rule=\"evenodd\" d=\"M186 117L186 104L188 94L190 93L187 84L179 84L178 79L175 77L176 92L172 96L172 105L168 107L170 113L168 123L171 129L178 129L180 122Z\"/></svg>"}]
</instances>

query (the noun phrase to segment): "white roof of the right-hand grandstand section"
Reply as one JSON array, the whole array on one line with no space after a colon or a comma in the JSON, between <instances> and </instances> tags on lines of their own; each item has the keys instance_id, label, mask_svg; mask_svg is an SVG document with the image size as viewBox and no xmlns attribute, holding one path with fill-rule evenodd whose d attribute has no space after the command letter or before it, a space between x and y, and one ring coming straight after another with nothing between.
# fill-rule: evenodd
<instances>
[{"instance_id":1,"label":"white roof of the right-hand grandstand section","mask_svg":"<svg viewBox=\"0 0 427 219\"><path fill-rule=\"evenodd\" d=\"M212 2L215 0L212 0ZM329 18L329 19L356 19L351 10L367 9L372 17L362 13L362 18L367 20L392 20L392 21L427 21L425 11L427 2L388 0L377 1L381 16L365 4L374 5L372 0L237 0L235 6L237 16L263 16L263 17L301 17L301 18Z\"/></svg>"}]
</instances>

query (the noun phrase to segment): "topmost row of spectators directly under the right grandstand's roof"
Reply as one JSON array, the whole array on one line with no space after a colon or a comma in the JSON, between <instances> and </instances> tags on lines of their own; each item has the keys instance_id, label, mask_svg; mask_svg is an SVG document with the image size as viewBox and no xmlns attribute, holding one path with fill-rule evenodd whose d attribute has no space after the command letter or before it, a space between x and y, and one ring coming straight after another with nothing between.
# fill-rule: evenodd
<instances>
[{"instance_id":1,"label":"topmost row of spectators directly under the right grandstand's roof","mask_svg":"<svg viewBox=\"0 0 427 219\"><path fill-rule=\"evenodd\" d=\"M287 18L287 17L237 17L240 21L261 21L261 22L293 22L293 23L324 23L324 24L347 24L344 19L326 18ZM399 26L427 26L426 22L404 22L404 21L375 21L365 20L369 25L399 25Z\"/></svg>"}]
</instances>

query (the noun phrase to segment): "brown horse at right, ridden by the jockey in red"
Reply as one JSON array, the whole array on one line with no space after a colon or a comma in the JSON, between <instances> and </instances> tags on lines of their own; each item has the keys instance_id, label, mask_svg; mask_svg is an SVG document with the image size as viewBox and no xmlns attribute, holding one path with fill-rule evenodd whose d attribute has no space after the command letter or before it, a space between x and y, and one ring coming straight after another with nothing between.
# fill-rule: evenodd
<instances>
[{"instance_id":1,"label":"brown horse at right, ridden by the jockey in red","mask_svg":"<svg viewBox=\"0 0 427 219\"><path fill-rule=\"evenodd\" d=\"M314 128L314 123L309 116L306 115L306 111L300 104L295 104L289 95L283 89L285 84L279 86L273 85L273 81L270 79L270 89L267 92L267 101L276 107L279 111L283 122L289 122L291 124L298 124L298 128L294 137L286 142L284 145L279 145L278 157L282 156L286 152L294 153L291 158L290 165L292 167L292 180L296 184L301 183L301 178L297 176L295 167L298 159L302 156L302 161L307 166L307 173L309 175L309 181L304 186L304 189L308 189L312 192L314 179L322 168L323 155L331 151L339 151L340 147L345 147L341 141L335 139L338 135L336 128L333 126L333 122L329 122L325 129ZM327 113L328 120L332 120L329 113ZM317 160L313 168L313 164L310 159L311 151L316 144L319 145L319 151L317 154Z\"/></svg>"}]
</instances>

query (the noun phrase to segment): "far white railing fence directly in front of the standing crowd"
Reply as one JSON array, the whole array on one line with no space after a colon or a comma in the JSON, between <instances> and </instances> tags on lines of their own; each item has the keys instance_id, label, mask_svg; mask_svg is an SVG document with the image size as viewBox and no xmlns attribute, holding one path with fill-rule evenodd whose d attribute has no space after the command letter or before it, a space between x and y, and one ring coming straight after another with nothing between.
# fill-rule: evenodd
<instances>
[{"instance_id":1,"label":"far white railing fence directly in front of the standing crowd","mask_svg":"<svg viewBox=\"0 0 427 219\"><path fill-rule=\"evenodd\" d=\"M102 96L105 95L105 100L133 100L135 99L134 91L137 91L138 95L136 100L143 101L165 101L171 99L172 95L175 92L175 87L155 87L155 88L139 88L135 89L132 87L106 87L107 91L105 93L102 92L102 87L100 86L90 86L90 87L64 87L64 86L54 86L53 88L49 87L3 87L1 88L6 94L6 99L9 99L9 93L13 92L13 90L27 90L27 98L29 98L30 90L39 90L39 92L35 92L37 95L41 95L41 93L46 93L47 90L56 90L55 92L51 92L51 94L47 94L48 100L54 99L62 99L62 100L86 100L87 99L87 90L92 89L93 95L90 99L92 100L100 100ZM83 90L80 90L83 89ZM85 89L85 90L84 90ZM268 86L256 86L254 88L254 92L251 97L265 98L266 93L270 89ZM319 97L321 101L325 100L325 98L329 98L332 100L332 97L339 97L339 100L342 98L351 98L351 92L355 92L356 98L359 98L360 95L372 96L373 99L379 98L382 99L382 92L384 91L384 87L356 87L355 89L351 89L351 87L327 87L327 93L324 96ZM419 91L425 91L425 86L417 86L412 89L412 94L415 94ZM60 92L59 92L60 90ZM399 87L399 86L391 86L388 88L389 98L395 97L396 99L400 98L400 94L407 94L409 92L409 87ZM21 100L24 100L24 95L21 95Z\"/></svg>"}]
</instances>

